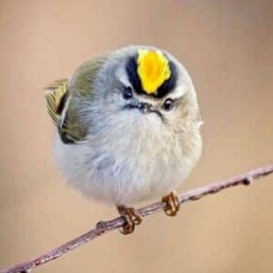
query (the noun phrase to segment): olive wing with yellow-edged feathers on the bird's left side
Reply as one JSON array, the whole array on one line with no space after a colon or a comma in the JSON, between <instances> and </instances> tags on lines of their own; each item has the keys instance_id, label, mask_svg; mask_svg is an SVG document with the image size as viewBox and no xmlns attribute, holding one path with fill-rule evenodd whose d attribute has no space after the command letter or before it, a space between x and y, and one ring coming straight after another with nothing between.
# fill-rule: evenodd
<instances>
[{"instance_id":1,"label":"olive wing with yellow-edged feathers on the bird's left side","mask_svg":"<svg viewBox=\"0 0 273 273\"><path fill-rule=\"evenodd\" d=\"M61 79L46 88L48 113L66 144L86 139L87 128L80 116L79 104L92 96L96 72L105 61L106 56L87 60L76 69L69 83L67 79Z\"/></svg>"}]
</instances>

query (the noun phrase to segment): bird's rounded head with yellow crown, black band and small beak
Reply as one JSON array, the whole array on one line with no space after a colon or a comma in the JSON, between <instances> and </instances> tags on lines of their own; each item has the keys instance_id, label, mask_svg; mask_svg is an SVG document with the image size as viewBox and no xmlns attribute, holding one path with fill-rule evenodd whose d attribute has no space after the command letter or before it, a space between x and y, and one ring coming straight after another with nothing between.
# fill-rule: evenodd
<instances>
[{"instance_id":1,"label":"bird's rounded head with yellow crown, black band and small beak","mask_svg":"<svg viewBox=\"0 0 273 273\"><path fill-rule=\"evenodd\" d=\"M92 84L92 110L86 116L98 129L175 129L198 118L196 92L186 68L156 47L134 45L110 53Z\"/></svg>"}]
</instances>

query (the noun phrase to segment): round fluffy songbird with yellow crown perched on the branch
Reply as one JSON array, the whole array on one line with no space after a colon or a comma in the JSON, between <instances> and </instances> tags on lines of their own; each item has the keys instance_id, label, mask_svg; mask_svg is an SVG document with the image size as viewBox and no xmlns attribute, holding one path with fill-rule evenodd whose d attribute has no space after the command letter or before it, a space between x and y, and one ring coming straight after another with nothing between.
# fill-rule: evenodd
<instances>
[{"instance_id":1,"label":"round fluffy songbird with yellow crown perched on the branch","mask_svg":"<svg viewBox=\"0 0 273 273\"><path fill-rule=\"evenodd\" d=\"M202 120L195 87L174 56L126 46L87 60L47 89L56 161L68 183L116 205L124 234L142 221L129 207L136 202L162 197L167 215L177 214L174 189L200 157Z\"/></svg>"}]
</instances>

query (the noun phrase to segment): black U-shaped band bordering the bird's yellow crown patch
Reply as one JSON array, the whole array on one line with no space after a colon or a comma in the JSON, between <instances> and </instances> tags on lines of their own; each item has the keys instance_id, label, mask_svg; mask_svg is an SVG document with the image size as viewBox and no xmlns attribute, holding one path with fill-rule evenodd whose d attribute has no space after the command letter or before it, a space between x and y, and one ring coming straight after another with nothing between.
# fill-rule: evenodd
<instances>
[{"instance_id":1,"label":"black U-shaped band bordering the bird's yellow crown patch","mask_svg":"<svg viewBox=\"0 0 273 273\"><path fill-rule=\"evenodd\" d=\"M137 94L161 98L166 96L169 92L173 91L177 84L177 67L173 62L169 61L169 68L171 71L171 76L161 86L158 87L155 94L149 95L147 95L147 93L142 88L140 78L137 74L137 63L135 56L130 57L127 61L126 74Z\"/></svg>"}]
</instances>

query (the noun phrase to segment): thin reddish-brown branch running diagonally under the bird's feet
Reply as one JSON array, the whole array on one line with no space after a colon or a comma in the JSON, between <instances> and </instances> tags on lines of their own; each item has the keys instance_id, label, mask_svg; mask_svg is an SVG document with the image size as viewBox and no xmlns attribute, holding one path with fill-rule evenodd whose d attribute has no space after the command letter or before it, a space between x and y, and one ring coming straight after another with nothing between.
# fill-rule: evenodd
<instances>
[{"instance_id":1,"label":"thin reddish-brown branch running diagonally under the bird's feet","mask_svg":"<svg viewBox=\"0 0 273 273\"><path fill-rule=\"evenodd\" d=\"M190 190L186 192L185 194L180 195L179 200L181 204L186 203L188 201L196 201L200 199L201 197L205 197L210 194L215 194L227 187L235 187L238 185L246 185L246 186L250 185L254 179L268 176L271 173L273 173L273 164L263 166L263 167L258 167L257 169L251 170L248 173L240 175L238 177L230 177L230 178L227 178L226 180L222 180L217 183L207 185L205 187L198 187L196 189ZM143 217L147 217L148 215L161 211L164 207L166 207L165 203L157 202L147 207L142 207L138 209L138 212ZM41 256L31 259L28 262L18 264L12 268L6 268L0 273L29 272L30 269L36 268L42 264L45 264L46 262L50 260L60 258L64 254L66 254L66 252L71 251L72 249L77 248L83 244L86 244L87 242L109 231L122 227L124 224L125 224L125 220L123 217L117 217L109 221L99 222L98 224L96 224L96 227L94 229L91 229L90 231L86 232L86 234L83 234L79 236L78 238L75 238L64 245L61 245L58 248L52 249L51 251Z\"/></svg>"}]
</instances>

